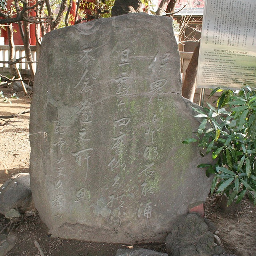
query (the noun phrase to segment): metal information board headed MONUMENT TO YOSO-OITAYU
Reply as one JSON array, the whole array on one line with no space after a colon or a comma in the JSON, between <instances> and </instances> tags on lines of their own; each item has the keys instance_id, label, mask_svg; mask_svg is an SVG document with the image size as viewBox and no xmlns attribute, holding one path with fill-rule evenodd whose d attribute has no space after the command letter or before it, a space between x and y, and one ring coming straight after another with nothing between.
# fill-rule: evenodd
<instances>
[{"instance_id":1,"label":"metal information board headed MONUMENT TO YOSO-OITAYU","mask_svg":"<svg viewBox=\"0 0 256 256\"><path fill-rule=\"evenodd\" d=\"M197 88L256 87L256 1L206 0Z\"/></svg>"}]
</instances>

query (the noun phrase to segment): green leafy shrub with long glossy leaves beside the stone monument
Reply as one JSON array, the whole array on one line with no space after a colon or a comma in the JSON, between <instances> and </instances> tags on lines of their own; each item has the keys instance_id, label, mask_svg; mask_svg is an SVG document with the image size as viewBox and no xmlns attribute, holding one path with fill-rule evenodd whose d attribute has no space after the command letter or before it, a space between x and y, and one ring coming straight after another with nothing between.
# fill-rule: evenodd
<instances>
[{"instance_id":1,"label":"green leafy shrub with long glossy leaves beside the stone monument","mask_svg":"<svg viewBox=\"0 0 256 256\"><path fill-rule=\"evenodd\" d=\"M217 107L208 107L194 108L195 117L200 118L198 139L182 143L197 142L201 152L212 154L216 164L198 166L206 168L207 176L214 175L211 193L226 193L228 205L234 200L238 203L246 191L256 191L256 92L248 86L239 93L226 88ZM247 194L256 204L256 193Z\"/></svg>"}]
</instances>

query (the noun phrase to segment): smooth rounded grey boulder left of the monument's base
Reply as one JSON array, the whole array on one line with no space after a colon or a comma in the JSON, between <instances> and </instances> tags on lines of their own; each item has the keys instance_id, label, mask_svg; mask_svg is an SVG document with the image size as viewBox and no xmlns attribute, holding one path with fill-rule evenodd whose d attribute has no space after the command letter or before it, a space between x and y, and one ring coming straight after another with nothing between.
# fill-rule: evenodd
<instances>
[{"instance_id":1,"label":"smooth rounded grey boulder left of the monument's base","mask_svg":"<svg viewBox=\"0 0 256 256\"><path fill-rule=\"evenodd\" d=\"M6 215L12 209L24 213L32 206L30 176L28 173L14 175L0 188L0 212Z\"/></svg>"}]
</instances>

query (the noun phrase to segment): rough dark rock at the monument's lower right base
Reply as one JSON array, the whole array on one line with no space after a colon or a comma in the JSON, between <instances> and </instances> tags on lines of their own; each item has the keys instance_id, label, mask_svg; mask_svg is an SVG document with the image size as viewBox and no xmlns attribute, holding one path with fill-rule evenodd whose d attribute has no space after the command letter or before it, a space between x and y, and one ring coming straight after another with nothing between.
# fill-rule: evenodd
<instances>
[{"instance_id":1,"label":"rough dark rock at the monument's lower right base","mask_svg":"<svg viewBox=\"0 0 256 256\"><path fill-rule=\"evenodd\" d=\"M198 214L181 216L166 237L166 248L172 256L212 256L224 250L214 245L214 234L208 222Z\"/></svg>"}]
</instances>

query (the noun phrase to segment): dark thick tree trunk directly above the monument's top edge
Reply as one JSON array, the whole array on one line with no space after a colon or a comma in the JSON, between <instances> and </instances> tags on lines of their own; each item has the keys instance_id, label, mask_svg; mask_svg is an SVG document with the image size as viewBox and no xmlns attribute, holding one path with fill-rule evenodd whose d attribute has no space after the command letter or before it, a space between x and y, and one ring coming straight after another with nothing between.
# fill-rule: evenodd
<instances>
[{"instance_id":1,"label":"dark thick tree trunk directly above the monument's top edge","mask_svg":"<svg viewBox=\"0 0 256 256\"><path fill-rule=\"evenodd\" d=\"M114 17L129 13L129 6L132 6L134 10L137 10L140 7L140 0L116 0L112 7L111 16Z\"/></svg>"}]
</instances>

